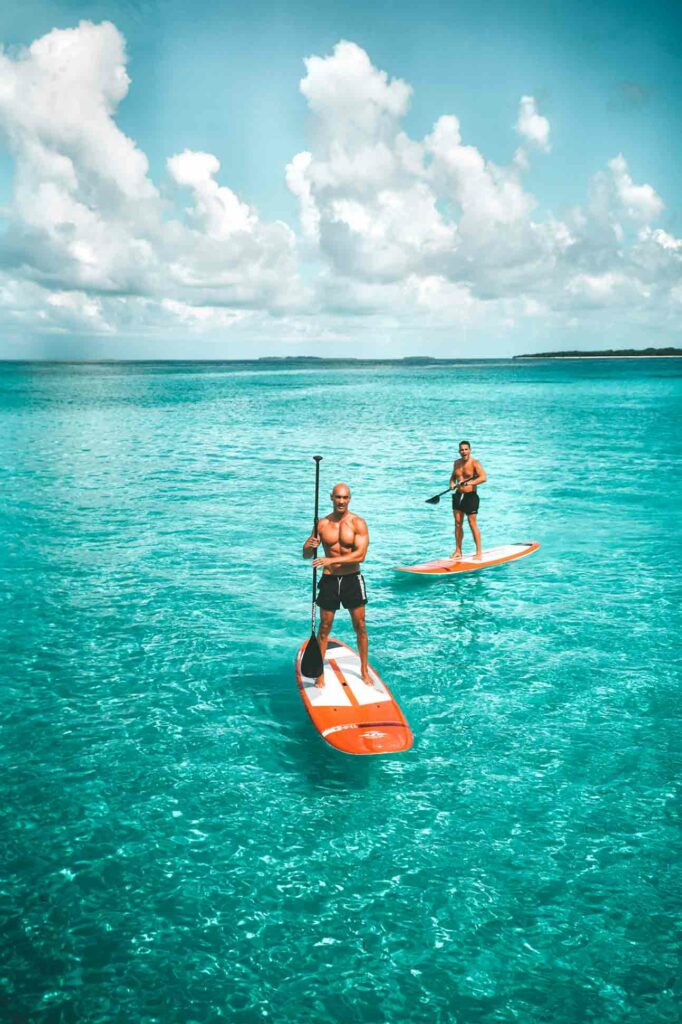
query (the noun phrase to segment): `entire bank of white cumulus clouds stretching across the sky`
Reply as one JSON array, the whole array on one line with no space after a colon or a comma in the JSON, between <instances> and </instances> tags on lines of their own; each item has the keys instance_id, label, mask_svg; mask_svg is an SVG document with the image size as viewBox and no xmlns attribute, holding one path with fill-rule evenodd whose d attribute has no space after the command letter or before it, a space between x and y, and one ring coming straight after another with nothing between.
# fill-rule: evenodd
<instances>
[{"instance_id":1,"label":"entire bank of white cumulus clouds stretching across the sky","mask_svg":"<svg viewBox=\"0 0 682 1024\"><path fill-rule=\"evenodd\" d=\"M210 153L169 156L154 182L116 122L130 87L110 23L0 53L0 132L14 161L4 330L228 342L267 331L275 345L341 350L358 323L380 325L390 346L404 330L532 322L551 334L614 309L653 325L679 314L682 241L623 154L586 182L582 205L541 213L524 178L552 159L551 125L531 95L500 166L451 113L411 138L411 86L354 43L306 58L311 144L284 170L299 208L289 225L263 222Z\"/></svg>"}]
</instances>

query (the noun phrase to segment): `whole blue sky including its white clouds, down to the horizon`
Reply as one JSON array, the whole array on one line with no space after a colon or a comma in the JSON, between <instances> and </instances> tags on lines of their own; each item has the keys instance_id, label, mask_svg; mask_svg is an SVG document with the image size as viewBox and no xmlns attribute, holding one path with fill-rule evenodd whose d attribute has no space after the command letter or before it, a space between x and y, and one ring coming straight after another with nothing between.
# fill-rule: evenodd
<instances>
[{"instance_id":1,"label":"whole blue sky including its white clouds, down to the horizon","mask_svg":"<svg viewBox=\"0 0 682 1024\"><path fill-rule=\"evenodd\" d=\"M0 356L679 344L676 7L10 2Z\"/></svg>"}]
</instances>

